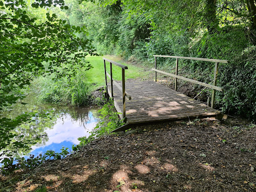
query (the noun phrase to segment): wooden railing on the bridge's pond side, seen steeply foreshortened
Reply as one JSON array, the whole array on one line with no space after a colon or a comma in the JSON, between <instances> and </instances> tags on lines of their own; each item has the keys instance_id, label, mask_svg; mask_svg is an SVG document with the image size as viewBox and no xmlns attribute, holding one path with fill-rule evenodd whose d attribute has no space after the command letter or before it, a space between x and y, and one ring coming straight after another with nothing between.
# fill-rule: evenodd
<instances>
[{"instance_id":1,"label":"wooden railing on the bridge's pond side, seen steeply foreshortened","mask_svg":"<svg viewBox=\"0 0 256 192\"><path fill-rule=\"evenodd\" d=\"M105 84L106 84L106 88L108 89L108 81L106 79L106 77L108 76L110 78L110 87L111 87L111 91L108 92L110 93L110 97L113 98L114 94L113 94L113 83L115 84L115 86L122 92L122 118L125 118L125 97L127 97L129 100L132 99L131 95L129 95L126 91L125 91L125 70L128 69L127 66L121 65L118 62L115 62L113 60L107 59L107 58L102 58L104 60L104 71L105 71ZM106 72L106 61L110 62L110 74L108 72ZM113 80L113 72L112 72L112 64L120 67L122 69L122 87L115 81ZM117 103L115 103L117 105Z\"/></svg>"}]
</instances>

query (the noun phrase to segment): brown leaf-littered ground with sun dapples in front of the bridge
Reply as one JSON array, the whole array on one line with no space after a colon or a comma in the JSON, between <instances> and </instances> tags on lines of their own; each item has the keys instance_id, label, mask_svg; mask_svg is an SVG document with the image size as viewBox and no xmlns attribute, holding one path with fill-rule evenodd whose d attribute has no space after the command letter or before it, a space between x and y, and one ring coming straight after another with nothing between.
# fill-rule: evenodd
<instances>
[{"instance_id":1,"label":"brown leaf-littered ground with sun dapples in front of the bridge","mask_svg":"<svg viewBox=\"0 0 256 192\"><path fill-rule=\"evenodd\" d=\"M256 126L242 119L143 125L1 177L4 191L255 191Z\"/></svg>"}]
</instances>

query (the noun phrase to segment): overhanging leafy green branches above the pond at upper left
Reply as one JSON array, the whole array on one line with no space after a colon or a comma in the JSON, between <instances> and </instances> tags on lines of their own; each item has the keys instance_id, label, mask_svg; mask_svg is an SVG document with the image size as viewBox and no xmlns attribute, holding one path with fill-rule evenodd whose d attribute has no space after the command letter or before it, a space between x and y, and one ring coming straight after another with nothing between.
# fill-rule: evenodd
<instances>
[{"instance_id":1,"label":"overhanging leafy green branches above the pond at upper left","mask_svg":"<svg viewBox=\"0 0 256 192\"><path fill-rule=\"evenodd\" d=\"M83 57L94 55L91 42L77 37L85 28L59 19L54 7L68 9L63 0L0 0L0 109L21 98L17 93L35 75L72 76L84 66Z\"/></svg>"}]
</instances>

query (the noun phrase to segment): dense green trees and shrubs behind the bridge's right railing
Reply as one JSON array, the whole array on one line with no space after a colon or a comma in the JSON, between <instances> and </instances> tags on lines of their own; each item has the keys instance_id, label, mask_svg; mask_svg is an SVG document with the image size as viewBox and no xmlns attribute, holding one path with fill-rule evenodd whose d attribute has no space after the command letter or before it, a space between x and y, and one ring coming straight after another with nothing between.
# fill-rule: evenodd
<instances>
[{"instance_id":1,"label":"dense green trees and shrubs behind the bridge's right railing","mask_svg":"<svg viewBox=\"0 0 256 192\"><path fill-rule=\"evenodd\" d=\"M249 4L190 0L95 2L82 1L84 7L74 7L70 22L86 25L89 38L101 53L152 63L155 54L227 59L230 63L219 66L217 84L225 91L217 92L216 106L223 112L255 116L256 24ZM82 14L74 17L77 11ZM175 59L158 58L158 66L173 71ZM180 59L179 74L210 83L214 66L214 62ZM205 100L211 96L211 90L204 96Z\"/></svg>"}]
</instances>

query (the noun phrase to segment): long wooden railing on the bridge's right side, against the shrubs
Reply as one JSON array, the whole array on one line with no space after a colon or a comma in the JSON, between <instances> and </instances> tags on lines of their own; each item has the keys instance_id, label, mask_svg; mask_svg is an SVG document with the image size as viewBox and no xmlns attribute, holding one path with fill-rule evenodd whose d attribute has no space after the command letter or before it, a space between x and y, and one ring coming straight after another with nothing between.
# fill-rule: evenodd
<instances>
[{"instance_id":1,"label":"long wooden railing on the bridge's right side, against the shrubs","mask_svg":"<svg viewBox=\"0 0 256 192\"><path fill-rule=\"evenodd\" d=\"M155 71L155 80L156 81L157 81L157 72L159 72L159 73L163 73L165 75L169 75L169 76L175 77L175 91L177 91L177 80L178 79L186 80L186 81L189 81L189 82L200 84L200 86L204 86L204 87L210 88L210 89L212 89L211 108L214 108L216 90L223 91L223 88L216 86L217 85L217 74L218 74L219 63L228 63L229 62L228 60L207 59L207 58L197 58L197 57L181 57L181 56L172 56L172 55L153 55L153 56L155 57L155 69L153 68L152 70ZM166 73L164 71L157 70L157 57L176 58L175 74ZM179 76L178 75L179 59L189 59L189 60L201 60L201 61L215 62L214 80L213 80L212 85L204 83L204 82L196 81L194 79L189 79L189 78L186 78L186 77Z\"/></svg>"}]
</instances>

